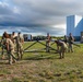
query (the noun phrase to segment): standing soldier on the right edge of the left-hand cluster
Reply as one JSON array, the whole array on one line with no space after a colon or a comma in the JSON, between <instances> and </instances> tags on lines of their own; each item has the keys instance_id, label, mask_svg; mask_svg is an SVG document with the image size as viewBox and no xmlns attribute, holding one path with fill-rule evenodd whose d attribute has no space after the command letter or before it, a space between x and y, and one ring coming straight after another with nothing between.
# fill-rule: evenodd
<instances>
[{"instance_id":1,"label":"standing soldier on the right edge of the left-hand cluster","mask_svg":"<svg viewBox=\"0 0 83 82\"><path fill-rule=\"evenodd\" d=\"M23 57L23 43L24 43L24 38L21 35L21 33L19 32L19 34L16 36L16 50L17 50L19 59L22 59L22 57Z\"/></svg>"}]
</instances>

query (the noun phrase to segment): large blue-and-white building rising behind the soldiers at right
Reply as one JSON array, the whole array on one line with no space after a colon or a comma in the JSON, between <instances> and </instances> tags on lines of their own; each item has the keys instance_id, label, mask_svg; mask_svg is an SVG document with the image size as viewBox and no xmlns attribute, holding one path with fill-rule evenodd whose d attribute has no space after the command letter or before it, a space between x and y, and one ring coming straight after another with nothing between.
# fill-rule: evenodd
<instances>
[{"instance_id":1,"label":"large blue-and-white building rising behind the soldiers at right","mask_svg":"<svg viewBox=\"0 0 83 82\"><path fill-rule=\"evenodd\" d=\"M83 17L79 15L67 16L67 36L72 33L73 36L81 36L83 32Z\"/></svg>"}]
</instances>

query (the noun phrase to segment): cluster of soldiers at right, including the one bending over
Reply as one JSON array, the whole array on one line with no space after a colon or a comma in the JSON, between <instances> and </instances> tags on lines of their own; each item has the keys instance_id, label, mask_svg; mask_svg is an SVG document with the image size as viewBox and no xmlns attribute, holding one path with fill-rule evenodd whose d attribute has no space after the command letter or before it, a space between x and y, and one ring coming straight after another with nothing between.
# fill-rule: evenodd
<instances>
[{"instance_id":1,"label":"cluster of soldiers at right, including the one bending over","mask_svg":"<svg viewBox=\"0 0 83 82\"><path fill-rule=\"evenodd\" d=\"M49 47L50 47L50 35L47 34L47 40L46 40L46 51L49 52ZM73 52L73 42L74 42L74 37L72 36L72 34L70 33L69 36L67 37L64 35L63 40L61 39L57 39L55 40L56 45L57 45L57 52L59 52L60 55L60 59L64 58L64 52Z\"/></svg>"}]
</instances>

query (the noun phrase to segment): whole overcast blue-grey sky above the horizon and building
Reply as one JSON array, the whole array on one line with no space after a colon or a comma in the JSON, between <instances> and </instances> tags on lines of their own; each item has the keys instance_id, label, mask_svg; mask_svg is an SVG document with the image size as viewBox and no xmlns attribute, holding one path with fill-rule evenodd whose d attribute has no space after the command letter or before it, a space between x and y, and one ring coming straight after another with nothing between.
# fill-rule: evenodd
<instances>
[{"instance_id":1,"label":"whole overcast blue-grey sky above the horizon and building","mask_svg":"<svg viewBox=\"0 0 83 82\"><path fill-rule=\"evenodd\" d=\"M0 34L64 35L73 14L83 15L83 0L0 0Z\"/></svg>"}]
</instances>

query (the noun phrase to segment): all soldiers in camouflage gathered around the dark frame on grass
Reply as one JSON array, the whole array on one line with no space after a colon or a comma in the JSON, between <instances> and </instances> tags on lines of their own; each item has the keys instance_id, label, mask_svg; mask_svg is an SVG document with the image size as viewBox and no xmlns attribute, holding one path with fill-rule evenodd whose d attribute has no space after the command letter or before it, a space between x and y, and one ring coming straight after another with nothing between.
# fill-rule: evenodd
<instances>
[{"instance_id":1,"label":"all soldiers in camouflage gathered around the dark frame on grass","mask_svg":"<svg viewBox=\"0 0 83 82\"><path fill-rule=\"evenodd\" d=\"M50 51L50 40L51 37L49 33L47 33L47 39L46 39L47 52ZM55 43L57 44L57 52L60 55L60 59L64 58L64 52L67 50L73 52L73 42L74 37L72 36L71 33L69 34L69 37L64 36L63 40L58 39L55 40ZM7 32L4 32L1 39L2 59L4 59L4 50L7 50L10 65L16 62L16 60L22 59L23 43L24 38L20 32L17 33L17 35L15 35L15 32L12 32L12 34L8 34Z\"/></svg>"}]
</instances>

